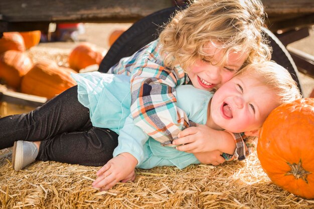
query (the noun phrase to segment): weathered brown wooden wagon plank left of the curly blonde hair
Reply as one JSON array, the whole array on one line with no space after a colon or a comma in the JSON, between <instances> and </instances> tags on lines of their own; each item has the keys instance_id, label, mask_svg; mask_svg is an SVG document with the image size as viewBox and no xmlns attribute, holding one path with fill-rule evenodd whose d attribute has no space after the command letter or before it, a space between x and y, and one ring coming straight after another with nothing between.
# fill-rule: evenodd
<instances>
[{"instance_id":1,"label":"weathered brown wooden wagon plank left of the curly blonde hair","mask_svg":"<svg viewBox=\"0 0 314 209\"><path fill-rule=\"evenodd\" d=\"M172 6L170 0L11 0L0 1L0 14L8 22L94 22L139 19Z\"/></svg>"}]
</instances>

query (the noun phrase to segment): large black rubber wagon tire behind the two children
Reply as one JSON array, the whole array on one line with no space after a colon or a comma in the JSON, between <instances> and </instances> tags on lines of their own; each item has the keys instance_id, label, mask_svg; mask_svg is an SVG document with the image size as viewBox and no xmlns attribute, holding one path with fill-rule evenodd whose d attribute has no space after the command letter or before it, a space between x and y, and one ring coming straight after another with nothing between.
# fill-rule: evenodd
<instances>
[{"instance_id":1,"label":"large black rubber wagon tire behind the two children","mask_svg":"<svg viewBox=\"0 0 314 209\"><path fill-rule=\"evenodd\" d=\"M172 14L180 9L181 8L179 7L167 8L155 12L134 23L113 43L106 56L101 61L98 71L103 73L108 72L108 70L119 62L121 58L131 56L146 44L156 40L158 38L158 30L160 30L160 26L167 23ZM297 68L287 49L268 29L263 28L263 32L273 49L271 59L289 71L302 92Z\"/></svg>"}]
</instances>

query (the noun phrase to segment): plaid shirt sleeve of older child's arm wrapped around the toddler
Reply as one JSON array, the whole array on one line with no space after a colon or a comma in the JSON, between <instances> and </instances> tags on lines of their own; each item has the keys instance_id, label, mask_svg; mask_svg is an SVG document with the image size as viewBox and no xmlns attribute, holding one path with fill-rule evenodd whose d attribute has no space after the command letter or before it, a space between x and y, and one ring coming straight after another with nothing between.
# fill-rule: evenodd
<instances>
[{"instance_id":1,"label":"plaid shirt sleeve of older child's arm wrapped around the toddler","mask_svg":"<svg viewBox=\"0 0 314 209\"><path fill-rule=\"evenodd\" d=\"M190 126L186 113L176 106L175 87L183 83L185 73L145 62L131 76L133 122L150 137L168 144Z\"/></svg>"}]
</instances>

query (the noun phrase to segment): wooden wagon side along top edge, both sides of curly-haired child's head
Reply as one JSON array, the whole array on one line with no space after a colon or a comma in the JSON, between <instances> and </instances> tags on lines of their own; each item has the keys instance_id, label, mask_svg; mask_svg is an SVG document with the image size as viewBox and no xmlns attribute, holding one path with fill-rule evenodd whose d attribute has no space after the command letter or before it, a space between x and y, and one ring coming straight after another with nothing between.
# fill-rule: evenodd
<instances>
[{"instance_id":1,"label":"wooden wagon side along top edge, both sides of curly-haired child's head","mask_svg":"<svg viewBox=\"0 0 314 209\"><path fill-rule=\"evenodd\" d=\"M313 0L262 0L271 31L314 24ZM0 1L0 33L48 28L65 22L135 22L153 12L174 6L174 0L11 0Z\"/></svg>"}]
</instances>

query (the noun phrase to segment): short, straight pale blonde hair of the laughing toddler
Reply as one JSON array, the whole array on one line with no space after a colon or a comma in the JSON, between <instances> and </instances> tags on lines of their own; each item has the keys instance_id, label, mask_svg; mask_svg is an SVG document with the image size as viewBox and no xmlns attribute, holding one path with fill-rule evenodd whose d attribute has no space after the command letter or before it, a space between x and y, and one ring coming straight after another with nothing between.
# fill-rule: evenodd
<instances>
[{"instance_id":1,"label":"short, straight pale blonde hair of the laughing toddler","mask_svg":"<svg viewBox=\"0 0 314 209\"><path fill-rule=\"evenodd\" d=\"M238 71L234 76L249 75L257 78L278 96L278 105L300 99L299 88L290 73L273 61L252 63Z\"/></svg>"}]
</instances>

